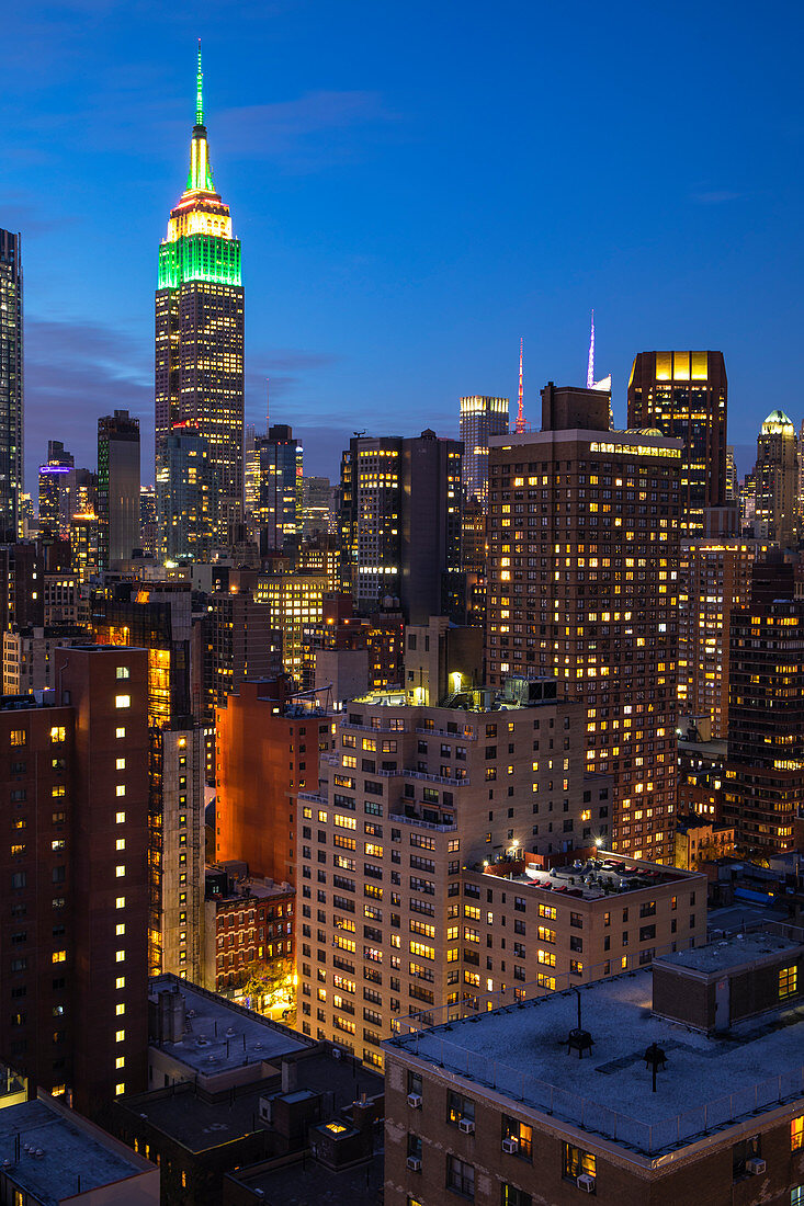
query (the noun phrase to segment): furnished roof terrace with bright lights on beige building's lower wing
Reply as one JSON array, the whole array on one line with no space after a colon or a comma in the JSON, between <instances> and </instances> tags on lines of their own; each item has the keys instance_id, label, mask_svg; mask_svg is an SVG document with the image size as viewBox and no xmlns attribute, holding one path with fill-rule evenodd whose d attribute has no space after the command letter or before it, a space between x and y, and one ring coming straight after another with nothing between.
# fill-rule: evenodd
<instances>
[{"instance_id":1,"label":"furnished roof terrace with bright lights on beige building's lower wing","mask_svg":"<svg viewBox=\"0 0 804 1206\"><path fill-rule=\"evenodd\" d=\"M658 863L634 862L602 851L599 859L577 860L563 867L550 867L549 871L542 871L530 862L526 863L524 872L501 876L499 868L505 866L496 863L487 874L494 876L495 879L505 878L520 888L537 888L582 900L598 900L606 895L642 891L646 888L694 879L694 873L691 872L680 872Z\"/></svg>"}]
</instances>

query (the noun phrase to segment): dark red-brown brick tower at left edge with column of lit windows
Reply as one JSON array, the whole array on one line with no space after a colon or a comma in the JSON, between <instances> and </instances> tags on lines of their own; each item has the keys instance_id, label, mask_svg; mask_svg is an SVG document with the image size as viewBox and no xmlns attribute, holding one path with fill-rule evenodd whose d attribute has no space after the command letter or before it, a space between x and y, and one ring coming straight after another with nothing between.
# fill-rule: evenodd
<instances>
[{"instance_id":1,"label":"dark red-brown brick tower at left edge with column of lit windows","mask_svg":"<svg viewBox=\"0 0 804 1206\"><path fill-rule=\"evenodd\" d=\"M147 652L54 650L0 701L0 1058L97 1114L145 1083Z\"/></svg>"}]
</instances>

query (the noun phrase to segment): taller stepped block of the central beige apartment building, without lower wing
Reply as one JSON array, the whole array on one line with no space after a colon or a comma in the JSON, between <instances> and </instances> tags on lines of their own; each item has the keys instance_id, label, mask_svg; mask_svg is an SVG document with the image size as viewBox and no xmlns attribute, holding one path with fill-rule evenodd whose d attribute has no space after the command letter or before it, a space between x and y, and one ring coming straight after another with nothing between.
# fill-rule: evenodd
<instances>
[{"instance_id":1,"label":"taller stepped block of the central beige apartment building, without lower wing","mask_svg":"<svg viewBox=\"0 0 804 1206\"><path fill-rule=\"evenodd\" d=\"M304 1034L378 1064L395 1018L473 990L467 867L605 841L611 780L585 773L583 707L558 699L554 680L507 692L443 708L374 692L338 714L319 791L298 796Z\"/></svg>"}]
</instances>

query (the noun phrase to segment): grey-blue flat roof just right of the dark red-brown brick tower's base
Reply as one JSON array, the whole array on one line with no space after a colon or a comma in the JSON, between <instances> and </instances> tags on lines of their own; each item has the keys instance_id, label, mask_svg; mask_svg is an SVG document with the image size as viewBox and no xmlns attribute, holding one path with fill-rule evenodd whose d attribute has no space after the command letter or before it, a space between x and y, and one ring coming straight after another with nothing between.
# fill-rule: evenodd
<instances>
[{"instance_id":1,"label":"grey-blue flat roof just right of the dark red-brown brick tower's base","mask_svg":"<svg viewBox=\"0 0 804 1206\"><path fill-rule=\"evenodd\" d=\"M282 1055L308 1050L314 1043L258 1013L232 1006L223 997L199 991L185 980L159 976L151 980L150 996L180 985L185 997L186 1030L179 1042L151 1043L181 1064L205 1076L244 1064L281 1061Z\"/></svg>"}]
</instances>

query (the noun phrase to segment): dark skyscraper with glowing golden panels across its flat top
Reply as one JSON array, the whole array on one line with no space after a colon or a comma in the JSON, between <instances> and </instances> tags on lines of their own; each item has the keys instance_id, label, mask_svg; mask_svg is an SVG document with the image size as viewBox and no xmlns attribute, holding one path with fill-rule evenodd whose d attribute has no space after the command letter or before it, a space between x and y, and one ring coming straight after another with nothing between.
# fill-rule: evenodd
<instances>
[{"instance_id":1,"label":"dark skyscraper with glowing golden panels across its flat top","mask_svg":"<svg viewBox=\"0 0 804 1206\"><path fill-rule=\"evenodd\" d=\"M726 502L728 385L722 352L637 352L628 382L629 428L683 441L680 526L704 534L704 511Z\"/></svg>"}]
</instances>

